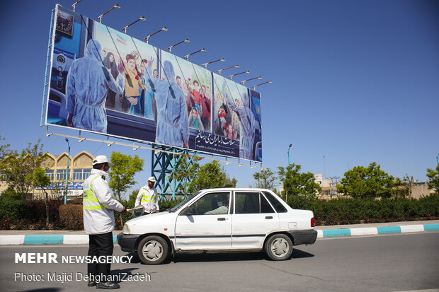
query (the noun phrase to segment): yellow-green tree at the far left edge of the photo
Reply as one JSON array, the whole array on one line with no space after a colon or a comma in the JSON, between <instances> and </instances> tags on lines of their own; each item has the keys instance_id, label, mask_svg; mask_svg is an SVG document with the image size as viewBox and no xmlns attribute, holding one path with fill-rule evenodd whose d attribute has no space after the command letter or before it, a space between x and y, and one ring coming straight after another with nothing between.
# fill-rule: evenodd
<instances>
[{"instance_id":1,"label":"yellow-green tree at the far left edge of the photo","mask_svg":"<svg viewBox=\"0 0 439 292\"><path fill-rule=\"evenodd\" d=\"M8 155L1 160L0 170L8 186L13 187L23 199L33 187L33 172L42 165L45 153L42 152L42 144L28 144L21 153L9 151Z\"/></svg>"}]
</instances>

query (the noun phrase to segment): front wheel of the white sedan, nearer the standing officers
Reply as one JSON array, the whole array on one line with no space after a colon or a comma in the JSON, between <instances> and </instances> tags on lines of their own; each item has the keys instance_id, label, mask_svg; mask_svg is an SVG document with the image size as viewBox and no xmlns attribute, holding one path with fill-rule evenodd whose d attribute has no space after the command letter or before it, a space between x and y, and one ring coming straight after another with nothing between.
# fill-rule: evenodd
<instances>
[{"instance_id":1,"label":"front wheel of the white sedan, nearer the standing officers","mask_svg":"<svg viewBox=\"0 0 439 292\"><path fill-rule=\"evenodd\" d=\"M161 264L168 257L169 246L160 236L151 235L140 240L137 254L144 264Z\"/></svg>"}]
</instances>

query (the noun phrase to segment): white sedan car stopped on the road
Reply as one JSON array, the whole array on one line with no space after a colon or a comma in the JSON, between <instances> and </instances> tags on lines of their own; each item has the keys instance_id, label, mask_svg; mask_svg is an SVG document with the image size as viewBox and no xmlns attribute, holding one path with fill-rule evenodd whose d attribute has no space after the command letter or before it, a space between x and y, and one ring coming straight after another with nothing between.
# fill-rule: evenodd
<instances>
[{"instance_id":1,"label":"white sedan car stopped on the road","mask_svg":"<svg viewBox=\"0 0 439 292\"><path fill-rule=\"evenodd\" d=\"M317 238L314 214L292 209L268 189L204 189L169 211L127 221L118 244L145 264L169 253L264 251L289 259L293 245Z\"/></svg>"}]
</instances>

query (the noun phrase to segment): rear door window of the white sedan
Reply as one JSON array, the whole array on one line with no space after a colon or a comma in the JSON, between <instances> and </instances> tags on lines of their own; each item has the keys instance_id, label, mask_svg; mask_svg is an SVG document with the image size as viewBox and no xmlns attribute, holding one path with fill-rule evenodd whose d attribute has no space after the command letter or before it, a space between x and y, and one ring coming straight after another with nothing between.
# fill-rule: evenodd
<instances>
[{"instance_id":1,"label":"rear door window of the white sedan","mask_svg":"<svg viewBox=\"0 0 439 292\"><path fill-rule=\"evenodd\" d=\"M267 199L259 192L236 192L236 214L275 213Z\"/></svg>"}]
</instances>

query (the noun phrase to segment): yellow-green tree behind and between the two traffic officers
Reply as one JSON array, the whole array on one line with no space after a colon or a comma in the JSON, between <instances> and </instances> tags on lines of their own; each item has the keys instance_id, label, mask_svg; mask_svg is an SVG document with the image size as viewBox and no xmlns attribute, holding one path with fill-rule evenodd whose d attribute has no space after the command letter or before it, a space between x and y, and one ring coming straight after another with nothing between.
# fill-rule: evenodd
<instances>
[{"instance_id":1,"label":"yellow-green tree behind and between the two traffic officers","mask_svg":"<svg viewBox=\"0 0 439 292\"><path fill-rule=\"evenodd\" d=\"M112 165L110 167L110 173L108 174L108 185L113 190L113 195L118 198L120 202L122 200L122 194L125 194L125 191L129 187L136 184L134 176L143 170L144 160L140 159L137 155L131 157L130 155L112 151L110 162ZM120 223L123 225L122 214L120 214Z\"/></svg>"}]
</instances>

